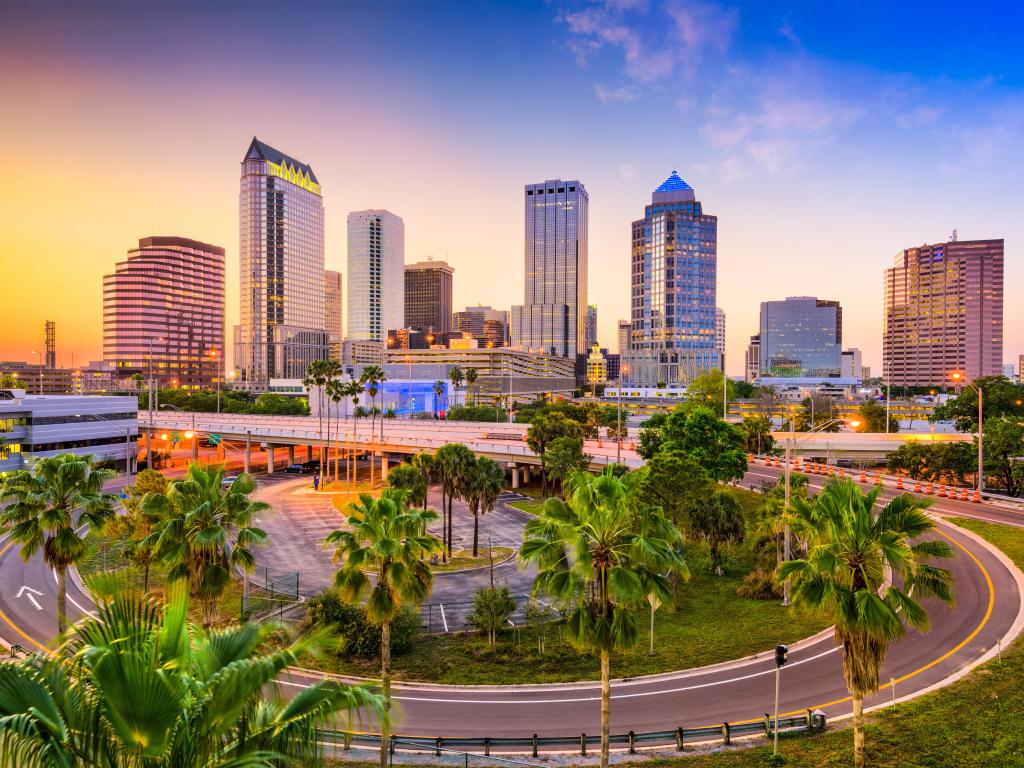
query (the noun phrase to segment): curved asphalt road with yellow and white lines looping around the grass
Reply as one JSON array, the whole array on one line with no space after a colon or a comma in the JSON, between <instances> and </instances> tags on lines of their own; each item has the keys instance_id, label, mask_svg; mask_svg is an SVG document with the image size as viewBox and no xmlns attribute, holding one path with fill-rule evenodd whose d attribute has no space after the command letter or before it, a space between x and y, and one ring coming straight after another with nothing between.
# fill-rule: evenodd
<instances>
[{"instance_id":1,"label":"curved asphalt road with yellow and white lines looping around the grass","mask_svg":"<svg viewBox=\"0 0 1024 768\"><path fill-rule=\"evenodd\" d=\"M777 477L780 470L753 466L745 478L757 484ZM812 486L823 478L812 476ZM895 492L887 489L885 495ZM939 515L990 519L1024 528L1024 515L993 505L940 500ZM929 605L932 632L910 632L895 645L883 668L883 679L896 680L899 698L913 695L963 673L994 652L997 640L1016 636L1024 623L1020 574L1006 558L975 538L942 523L942 536L957 557L949 567L956 583L956 606ZM31 587L35 592L20 590ZM6 543L0 548L0 636L31 650L42 648L55 634L55 582L37 559L24 563ZM90 602L69 582L73 615ZM17 594L20 591L20 596ZM39 608L33 604L34 599ZM79 607L75 607L76 603ZM770 648L777 640L765 638ZM782 673L783 712L807 708L829 717L847 715L850 702L838 649L830 637L800 643L791 651ZM613 670L612 670L613 671ZM305 673L294 672L284 684L303 686ZM593 683L514 687L393 686L396 730L422 736L529 736L599 732L599 688ZM774 664L770 653L716 668L618 681L612 686L612 730L638 732L692 728L722 722L760 719L770 712L774 695ZM888 683L868 706L890 700Z\"/></svg>"}]
</instances>

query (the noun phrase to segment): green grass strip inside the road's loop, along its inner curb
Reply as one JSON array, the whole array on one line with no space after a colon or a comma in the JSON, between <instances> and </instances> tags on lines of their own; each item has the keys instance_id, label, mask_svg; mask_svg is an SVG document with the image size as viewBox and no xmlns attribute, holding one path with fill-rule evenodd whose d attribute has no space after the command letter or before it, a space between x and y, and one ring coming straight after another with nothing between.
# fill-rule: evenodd
<instances>
[{"instance_id":1,"label":"green grass strip inside the road's loop, along its inner curb","mask_svg":"<svg viewBox=\"0 0 1024 768\"><path fill-rule=\"evenodd\" d=\"M739 658L768 651L779 642L809 637L827 626L820 615L801 608L783 608L775 600L738 597L736 588L746 572L745 563L733 562L726 575L714 577L699 547L691 548L688 557L692 579L680 587L676 608L665 605L655 614L654 654L648 655L650 614L642 610L637 615L640 642L612 656L613 677L650 675ZM560 624L549 624L543 630L506 630L495 647L488 647L485 639L477 635L423 636L412 650L392 657L394 673L403 680L463 685L598 679L598 660L563 641L561 630ZM539 649L542 638L543 653ZM309 664L365 677L375 676L378 667L375 659L334 654Z\"/></svg>"}]
</instances>

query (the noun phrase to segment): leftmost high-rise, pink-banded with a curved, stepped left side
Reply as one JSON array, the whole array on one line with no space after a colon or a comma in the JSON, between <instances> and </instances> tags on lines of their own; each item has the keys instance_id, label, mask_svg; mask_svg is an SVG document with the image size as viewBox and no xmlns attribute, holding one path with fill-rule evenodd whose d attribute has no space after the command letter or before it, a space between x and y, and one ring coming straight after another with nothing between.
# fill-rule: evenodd
<instances>
[{"instance_id":1,"label":"leftmost high-rise, pink-banded with a curved, stepped left side","mask_svg":"<svg viewBox=\"0 0 1024 768\"><path fill-rule=\"evenodd\" d=\"M142 238L103 275L103 360L124 381L209 387L224 364L224 249Z\"/></svg>"}]
</instances>

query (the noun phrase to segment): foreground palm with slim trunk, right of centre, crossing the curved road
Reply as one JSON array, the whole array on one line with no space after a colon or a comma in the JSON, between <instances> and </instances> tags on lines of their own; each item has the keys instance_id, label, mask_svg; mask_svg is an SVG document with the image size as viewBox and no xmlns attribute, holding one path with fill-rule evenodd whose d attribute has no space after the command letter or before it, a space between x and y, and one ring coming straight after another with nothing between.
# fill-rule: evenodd
<instances>
[{"instance_id":1,"label":"foreground palm with slim trunk, right of centre, crossing the curved road","mask_svg":"<svg viewBox=\"0 0 1024 768\"><path fill-rule=\"evenodd\" d=\"M682 536L657 507L636 508L636 475L577 472L566 501L548 499L526 523L520 557L538 564L534 594L568 607L570 642L601 659L601 768L608 765L611 651L637 642L634 611L685 578Z\"/></svg>"}]
</instances>

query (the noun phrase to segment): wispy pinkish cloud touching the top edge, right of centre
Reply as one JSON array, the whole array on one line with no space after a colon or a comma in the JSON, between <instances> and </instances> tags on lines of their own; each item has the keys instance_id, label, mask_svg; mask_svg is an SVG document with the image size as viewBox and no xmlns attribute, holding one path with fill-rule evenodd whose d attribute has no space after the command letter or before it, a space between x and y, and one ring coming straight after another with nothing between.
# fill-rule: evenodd
<instances>
[{"instance_id":1,"label":"wispy pinkish cloud touching the top edge, right of centre","mask_svg":"<svg viewBox=\"0 0 1024 768\"><path fill-rule=\"evenodd\" d=\"M617 50L625 75L646 84L688 74L706 51L724 53L738 14L706 2L603 0L559 19L582 67L605 48Z\"/></svg>"}]
</instances>

